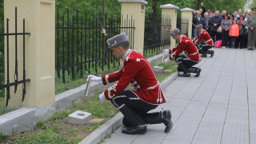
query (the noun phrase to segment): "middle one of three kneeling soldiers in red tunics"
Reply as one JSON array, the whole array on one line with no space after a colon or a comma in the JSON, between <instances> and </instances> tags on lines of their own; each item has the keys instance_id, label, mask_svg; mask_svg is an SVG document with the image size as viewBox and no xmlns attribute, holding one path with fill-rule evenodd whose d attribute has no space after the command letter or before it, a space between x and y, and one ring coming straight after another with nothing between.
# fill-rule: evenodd
<instances>
[{"instance_id":1,"label":"middle one of three kneeling soldiers in red tunics","mask_svg":"<svg viewBox=\"0 0 256 144\"><path fill-rule=\"evenodd\" d=\"M178 74L178 76L190 77L190 73L195 73L195 77L199 77L201 69L192 66L201 62L202 58L199 55L198 49L194 46L194 43L190 38L186 37L186 35L181 34L178 28L172 30L170 35L178 41L178 46L173 49L163 51L166 54L170 54L170 58L166 58L164 63L175 59L178 63L178 72L183 72L183 74ZM179 55L182 51L184 51L185 55Z\"/></svg>"}]
</instances>

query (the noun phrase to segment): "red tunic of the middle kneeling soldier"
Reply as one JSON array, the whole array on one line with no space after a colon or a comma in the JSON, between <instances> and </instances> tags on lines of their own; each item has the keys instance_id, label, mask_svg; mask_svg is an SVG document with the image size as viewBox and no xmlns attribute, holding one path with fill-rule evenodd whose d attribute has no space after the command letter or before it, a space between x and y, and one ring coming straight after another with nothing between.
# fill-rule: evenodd
<instances>
[{"instance_id":1,"label":"red tunic of the middle kneeling soldier","mask_svg":"<svg viewBox=\"0 0 256 144\"><path fill-rule=\"evenodd\" d=\"M194 46L194 43L191 41L191 39L186 37L186 35L181 35L178 46L170 49L170 59L174 60L174 58L178 57L178 55L181 54L182 51L184 51L186 58L190 58L190 60L194 62L202 61L198 49L196 48L196 46Z\"/></svg>"}]
</instances>

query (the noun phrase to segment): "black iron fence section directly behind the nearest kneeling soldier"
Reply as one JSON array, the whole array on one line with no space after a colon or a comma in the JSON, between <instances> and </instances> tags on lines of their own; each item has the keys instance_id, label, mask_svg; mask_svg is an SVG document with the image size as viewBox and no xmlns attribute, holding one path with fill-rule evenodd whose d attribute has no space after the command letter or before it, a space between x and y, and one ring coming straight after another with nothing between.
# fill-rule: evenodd
<instances>
[{"instance_id":1,"label":"black iron fence section directly behind the nearest kneeling soldier","mask_svg":"<svg viewBox=\"0 0 256 144\"><path fill-rule=\"evenodd\" d=\"M56 71L58 78L66 82L66 77L83 78L94 70L110 69L110 64L120 65L111 54L102 34L113 37L125 31L133 48L134 20L120 15L90 14L86 11L59 10L56 12ZM123 24L121 25L121 21ZM101 27L102 26L102 27ZM112 66L111 66L112 67Z\"/></svg>"}]
</instances>

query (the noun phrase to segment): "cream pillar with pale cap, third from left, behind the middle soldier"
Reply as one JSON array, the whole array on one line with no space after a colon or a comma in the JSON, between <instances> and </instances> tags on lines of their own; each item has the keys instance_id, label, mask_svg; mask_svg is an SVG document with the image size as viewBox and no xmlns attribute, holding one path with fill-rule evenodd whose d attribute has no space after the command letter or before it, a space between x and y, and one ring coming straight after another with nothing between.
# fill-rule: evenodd
<instances>
[{"instance_id":1,"label":"cream pillar with pale cap, third from left, behind the middle soldier","mask_svg":"<svg viewBox=\"0 0 256 144\"><path fill-rule=\"evenodd\" d=\"M173 30L177 26L177 10L179 9L178 6L174 6L172 4L166 4L160 6L162 8L162 15L170 16L170 30ZM175 47L175 40L174 38L170 38L170 47Z\"/></svg>"}]
</instances>

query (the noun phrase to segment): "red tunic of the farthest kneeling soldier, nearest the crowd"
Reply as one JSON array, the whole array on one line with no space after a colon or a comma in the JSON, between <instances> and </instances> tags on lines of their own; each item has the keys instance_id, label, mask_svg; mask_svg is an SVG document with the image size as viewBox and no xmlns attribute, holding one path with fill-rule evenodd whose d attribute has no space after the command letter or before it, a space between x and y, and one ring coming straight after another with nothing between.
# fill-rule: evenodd
<instances>
[{"instance_id":1,"label":"red tunic of the farthest kneeling soldier, nearest the crowd","mask_svg":"<svg viewBox=\"0 0 256 144\"><path fill-rule=\"evenodd\" d=\"M193 39L194 44L197 44L198 42L201 42L201 41L206 42L207 45L214 46L214 41L210 37L210 34L203 29L201 33Z\"/></svg>"}]
</instances>

